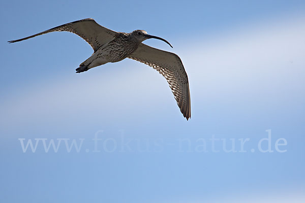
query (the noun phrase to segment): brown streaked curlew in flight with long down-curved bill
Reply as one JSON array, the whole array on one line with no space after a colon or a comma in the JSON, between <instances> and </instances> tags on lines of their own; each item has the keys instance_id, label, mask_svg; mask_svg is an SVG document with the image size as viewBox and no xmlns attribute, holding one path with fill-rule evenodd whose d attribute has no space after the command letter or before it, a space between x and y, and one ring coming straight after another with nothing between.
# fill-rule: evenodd
<instances>
[{"instance_id":1,"label":"brown streaked curlew in flight with long down-curved bill","mask_svg":"<svg viewBox=\"0 0 305 203\"><path fill-rule=\"evenodd\" d=\"M148 35L145 30L140 29L130 33L116 32L99 25L92 18L86 18L59 25L26 38L8 41L8 43L20 42L53 31L75 33L93 48L94 53L92 56L79 65L76 73L88 71L93 67L108 62L118 62L125 58L137 60L153 67L167 80L180 112L187 120L191 118L189 79L180 57L175 53L163 51L142 43L147 39L158 39L172 47L168 41Z\"/></svg>"}]
</instances>

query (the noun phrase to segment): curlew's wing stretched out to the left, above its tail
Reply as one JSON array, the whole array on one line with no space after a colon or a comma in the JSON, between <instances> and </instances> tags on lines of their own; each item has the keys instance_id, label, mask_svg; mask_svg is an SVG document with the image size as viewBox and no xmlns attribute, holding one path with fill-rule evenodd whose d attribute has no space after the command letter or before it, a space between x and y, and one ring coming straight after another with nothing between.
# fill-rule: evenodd
<instances>
[{"instance_id":1,"label":"curlew's wing stretched out to the left, above its tail","mask_svg":"<svg viewBox=\"0 0 305 203\"><path fill-rule=\"evenodd\" d=\"M9 41L9 43L27 40L29 38L34 38L36 36L40 36L45 33L53 32L53 31L73 32L82 39L84 39L90 46L92 46L94 51L97 51L102 45L112 41L118 35L118 32L107 29L106 27L99 25L92 18L87 18L83 20L70 22L64 25L59 25L57 27L53 27L51 29L48 29L46 31L37 33L36 35L32 35L26 38L22 38L19 40L12 40Z\"/></svg>"}]
</instances>

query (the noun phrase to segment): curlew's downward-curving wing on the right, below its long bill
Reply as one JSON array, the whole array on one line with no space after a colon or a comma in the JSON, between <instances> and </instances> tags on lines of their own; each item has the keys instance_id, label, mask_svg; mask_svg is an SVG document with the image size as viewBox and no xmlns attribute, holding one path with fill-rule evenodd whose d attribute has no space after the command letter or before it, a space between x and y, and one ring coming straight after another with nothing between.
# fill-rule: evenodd
<instances>
[{"instance_id":1,"label":"curlew's downward-curving wing on the right, below its long bill","mask_svg":"<svg viewBox=\"0 0 305 203\"><path fill-rule=\"evenodd\" d=\"M181 113L187 120L191 118L189 80L179 56L141 43L128 58L145 63L162 74L174 94Z\"/></svg>"}]
</instances>

